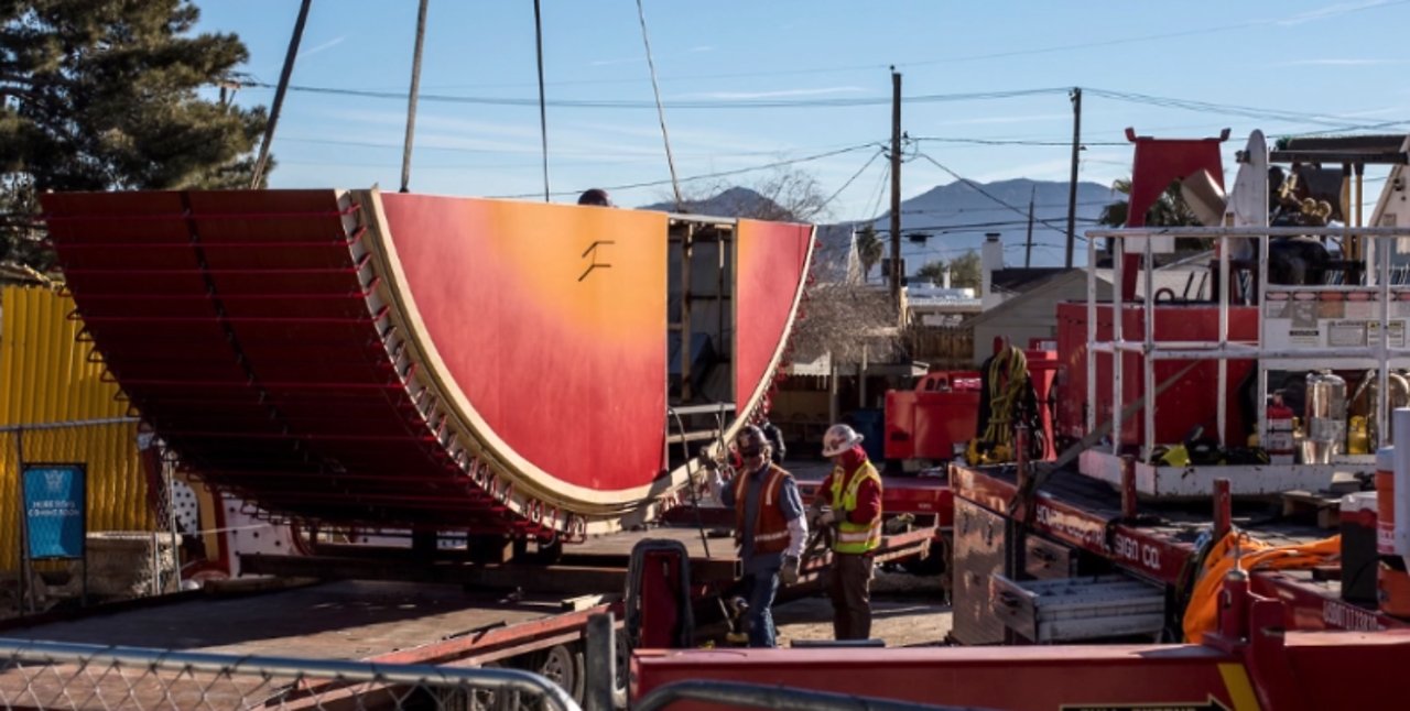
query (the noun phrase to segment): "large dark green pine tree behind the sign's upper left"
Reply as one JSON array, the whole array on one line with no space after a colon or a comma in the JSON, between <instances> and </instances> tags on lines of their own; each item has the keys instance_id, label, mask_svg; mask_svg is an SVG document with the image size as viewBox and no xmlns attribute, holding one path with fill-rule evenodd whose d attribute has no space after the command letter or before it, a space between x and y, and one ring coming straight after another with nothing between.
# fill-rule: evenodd
<instances>
[{"instance_id":1,"label":"large dark green pine tree behind the sign's upper left","mask_svg":"<svg viewBox=\"0 0 1410 711\"><path fill-rule=\"evenodd\" d=\"M0 0L0 262L47 269L35 193L247 186L262 108L202 96L248 56L189 0Z\"/></svg>"}]
</instances>

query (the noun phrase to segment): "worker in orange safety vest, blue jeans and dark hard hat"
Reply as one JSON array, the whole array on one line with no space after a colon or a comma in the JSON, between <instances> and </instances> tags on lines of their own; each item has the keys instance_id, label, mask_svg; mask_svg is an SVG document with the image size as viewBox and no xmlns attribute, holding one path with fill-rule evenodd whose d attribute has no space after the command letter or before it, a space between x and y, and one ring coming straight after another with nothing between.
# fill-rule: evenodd
<instances>
[{"instance_id":1,"label":"worker in orange safety vest, blue jeans and dark hard hat","mask_svg":"<svg viewBox=\"0 0 1410 711\"><path fill-rule=\"evenodd\" d=\"M735 542L744 572L740 590L749 605L749 646L777 646L771 607L780 580L798 581L808 521L792 474L770 462L763 429L744 427L735 438L735 448L740 472L715 486L721 503L735 508Z\"/></svg>"}]
</instances>

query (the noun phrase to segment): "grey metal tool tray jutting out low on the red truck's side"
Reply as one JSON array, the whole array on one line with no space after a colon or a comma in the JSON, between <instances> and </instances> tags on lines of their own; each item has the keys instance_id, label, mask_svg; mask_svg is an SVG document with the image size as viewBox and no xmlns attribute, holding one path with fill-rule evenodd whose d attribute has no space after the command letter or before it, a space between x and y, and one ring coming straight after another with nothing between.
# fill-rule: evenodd
<instances>
[{"instance_id":1,"label":"grey metal tool tray jutting out low on the red truck's side","mask_svg":"<svg viewBox=\"0 0 1410 711\"><path fill-rule=\"evenodd\" d=\"M1156 635L1165 627L1165 591L1127 576L990 580L994 617L1032 642Z\"/></svg>"}]
</instances>

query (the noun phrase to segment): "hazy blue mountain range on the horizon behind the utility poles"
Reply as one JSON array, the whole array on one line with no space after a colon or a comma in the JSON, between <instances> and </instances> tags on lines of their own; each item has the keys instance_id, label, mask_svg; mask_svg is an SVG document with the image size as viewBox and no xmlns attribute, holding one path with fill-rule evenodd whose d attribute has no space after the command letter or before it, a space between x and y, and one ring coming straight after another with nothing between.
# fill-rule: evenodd
<instances>
[{"instance_id":1,"label":"hazy blue mountain range on the horizon behind the utility poles","mask_svg":"<svg viewBox=\"0 0 1410 711\"><path fill-rule=\"evenodd\" d=\"M1076 231L1079 239L1073 263L1087 262L1084 229L1096 225L1101 210L1125 200L1120 193L1100 183L1077 183ZM998 180L993 183L953 182L935 186L909 200L901 201L901 259L907 273L915 273L929 262L950 260L970 249L979 251L986 232L998 232L1004 244L1004 265L1024 266L1026 256L1028 206L1034 206L1034 248L1031 266L1062 266L1066 251L1067 183L1050 180ZM642 210L673 210L670 203L644 206ZM706 200L691 201L685 211L705 215L773 214L777 213L767 197L747 187L732 187ZM877 237L887 242L891 232L890 211L874 220L859 220L818 225L818 259L833 262L830 272L842 269L853 229L871 224ZM871 270L878 279L880 269Z\"/></svg>"}]
</instances>

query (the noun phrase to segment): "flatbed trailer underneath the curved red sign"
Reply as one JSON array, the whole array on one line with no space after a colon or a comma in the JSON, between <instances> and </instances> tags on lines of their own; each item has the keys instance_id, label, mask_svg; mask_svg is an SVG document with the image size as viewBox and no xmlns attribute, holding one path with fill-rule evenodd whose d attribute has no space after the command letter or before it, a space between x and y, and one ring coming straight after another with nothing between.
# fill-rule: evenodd
<instances>
[{"instance_id":1,"label":"flatbed trailer underneath the curved red sign","mask_svg":"<svg viewBox=\"0 0 1410 711\"><path fill-rule=\"evenodd\" d=\"M718 531L660 527L595 536L568 546L556 563L482 565L457 559L454 552L416 560L409 549L357 545L321 546L312 556L243 556L245 572L265 576L79 612L13 618L0 624L0 638L313 660L509 666L539 672L581 698L588 619L612 612L622 627L630 617L623 596L633 549L643 542L680 546L689 559L689 604L709 612L718 608L715 596L740 570L733 541L712 538ZM926 525L888 534L880 558L922 555L933 536L933 527ZM798 586L781 597L816 590L825 563L814 559ZM643 624L653 619L643 618Z\"/></svg>"}]
</instances>

